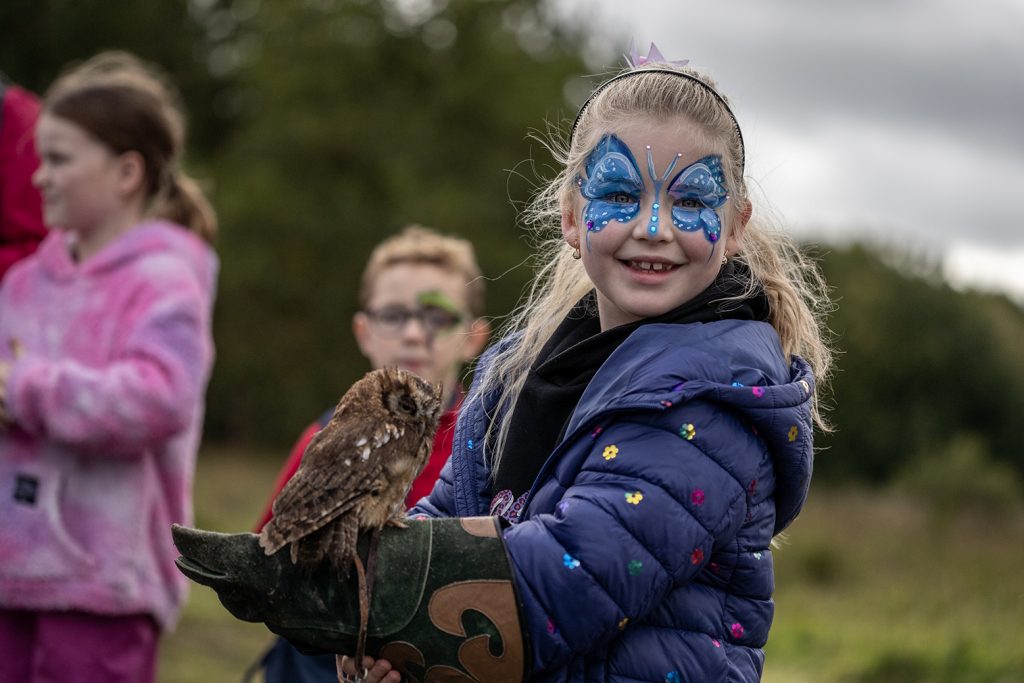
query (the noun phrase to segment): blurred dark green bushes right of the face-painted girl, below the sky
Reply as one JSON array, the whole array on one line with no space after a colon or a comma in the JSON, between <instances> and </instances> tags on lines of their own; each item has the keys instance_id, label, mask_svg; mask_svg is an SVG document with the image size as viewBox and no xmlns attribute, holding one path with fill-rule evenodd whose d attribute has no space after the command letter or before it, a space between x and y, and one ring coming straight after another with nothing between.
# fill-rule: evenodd
<instances>
[{"instance_id":1,"label":"blurred dark green bushes right of the face-painted girl, below the sky","mask_svg":"<svg viewBox=\"0 0 1024 683\"><path fill-rule=\"evenodd\" d=\"M867 247L821 257L840 355L829 398L837 429L817 438L815 475L888 480L911 464L930 467L966 437L980 460L1024 473L1024 310L950 289L923 257Z\"/></svg>"}]
</instances>

